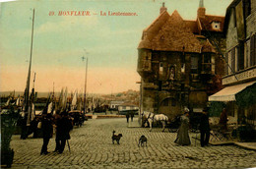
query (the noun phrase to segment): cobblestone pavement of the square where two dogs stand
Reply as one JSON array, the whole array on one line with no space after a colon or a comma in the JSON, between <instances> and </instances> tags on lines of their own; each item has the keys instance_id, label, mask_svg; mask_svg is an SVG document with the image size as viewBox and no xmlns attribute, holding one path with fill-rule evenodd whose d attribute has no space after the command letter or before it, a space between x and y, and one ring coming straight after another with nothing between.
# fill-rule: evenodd
<instances>
[{"instance_id":1,"label":"cobblestone pavement of the square where two dogs stand","mask_svg":"<svg viewBox=\"0 0 256 169\"><path fill-rule=\"evenodd\" d=\"M123 137L120 144L112 144L115 130ZM148 138L148 146L138 147L140 136ZM190 137L194 134L190 134ZM71 132L68 147L62 154L51 152L39 155L42 139L11 142L15 150L12 168L249 168L256 167L256 151L234 145L199 146L191 139L189 146L178 146L175 133L154 128L127 128L125 118L97 119L85 122ZM54 139L48 150L53 151Z\"/></svg>"}]
</instances>

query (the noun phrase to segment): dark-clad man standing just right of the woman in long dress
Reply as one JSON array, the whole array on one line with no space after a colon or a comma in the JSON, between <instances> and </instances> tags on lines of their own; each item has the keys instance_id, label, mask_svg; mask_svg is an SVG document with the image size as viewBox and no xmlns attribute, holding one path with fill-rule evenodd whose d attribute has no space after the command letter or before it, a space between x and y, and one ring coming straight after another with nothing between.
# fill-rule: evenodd
<instances>
[{"instance_id":1,"label":"dark-clad man standing just right of the woman in long dress","mask_svg":"<svg viewBox=\"0 0 256 169\"><path fill-rule=\"evenodd\" d=\"M203 147L205 145L208 145L209 139L210 139L210 125L209 125L209 114L208 114L207 108L203 110L203 113L200 119L199 130L201 135L201 138L200 138L201 146Z\"/></svg>"}]
</instances>

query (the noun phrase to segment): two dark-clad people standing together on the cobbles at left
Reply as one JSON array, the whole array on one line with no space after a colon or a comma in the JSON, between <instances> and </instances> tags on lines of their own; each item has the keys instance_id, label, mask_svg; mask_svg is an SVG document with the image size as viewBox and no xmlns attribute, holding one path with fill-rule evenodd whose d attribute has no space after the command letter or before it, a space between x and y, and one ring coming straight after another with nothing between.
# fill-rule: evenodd
<instances>
[{"instance_id":1,"label":"two dark-clad people standing together on the cobbles at left","mask_svg":"<svg viewBox=\"0 0 256 169\"><path fill-rule=\"evenodd\" d=\"M66 141L70 140L69 132L73 129L72 120L68 116L68 112L56 114L55 118L51 114L43 115L41 120L43 144L40 154L47 154L47 145L53 135L53 126L56 129L56 146L54 152L62 153Z\"/></svg>"}]
</instances>

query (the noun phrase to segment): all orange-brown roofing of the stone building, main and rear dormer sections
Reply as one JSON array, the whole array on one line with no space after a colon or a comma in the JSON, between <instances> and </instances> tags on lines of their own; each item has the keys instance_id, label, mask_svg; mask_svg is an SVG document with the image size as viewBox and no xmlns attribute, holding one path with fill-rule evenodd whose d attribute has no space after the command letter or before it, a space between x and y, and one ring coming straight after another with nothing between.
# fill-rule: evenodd
<instances>
[{"instance_id":1,"label":"all orange-brown roofing of the stone building, main and rear dormer sections","mask_svg":"<svg viewBox=\"0 0 256 169\"><path fill-rule=\"evenodd\" d=\"M212 23L220 22L221 29L213 29ZM179 52L216 52L209 40L200 40L195 34L202 30L223 31L224 17L204 15L196 21L184 21L175 10L171 16L164 11L148 27L143 30L138 49ZM194 34L195 33L195 34Z\"/></svg>"}]
</instances>

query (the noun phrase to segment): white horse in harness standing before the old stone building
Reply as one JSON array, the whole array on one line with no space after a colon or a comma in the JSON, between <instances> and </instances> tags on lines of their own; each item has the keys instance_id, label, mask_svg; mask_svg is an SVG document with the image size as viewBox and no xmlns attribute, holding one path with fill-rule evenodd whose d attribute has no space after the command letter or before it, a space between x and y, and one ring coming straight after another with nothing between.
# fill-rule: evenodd
<instances>
[{"instance_id":1,"label":"white horse in harness standing before the old stone building","mask_svg":"<svg viewBox=\"0 0 256 169\"><path fill-rule=\"evenodd\" d=\"M161 122L162 125L162 132L164 132L165 129L165 124L168 121L168 117L164 114L154 114L152 112L148 112L148 111L144 111L141 114L142 118L146 118L146 120L149 122L150 124L150 132L152 131L152 124L153 122ZM147 121L145 122L145 126L147 125Z\"/></svg>"}]
</instances>

